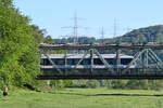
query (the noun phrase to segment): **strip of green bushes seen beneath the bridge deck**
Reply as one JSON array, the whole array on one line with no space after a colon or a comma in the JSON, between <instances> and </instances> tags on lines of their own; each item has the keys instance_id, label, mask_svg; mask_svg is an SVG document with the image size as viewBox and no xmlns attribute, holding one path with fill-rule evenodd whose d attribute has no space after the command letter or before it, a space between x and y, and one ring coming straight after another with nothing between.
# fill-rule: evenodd
<instances>
[{"instance_id":1,"label":"strip of green bushes seen beneath the bridge deck","mask_svg":"<svg viewBox=\"0 0 163 108\"><path fill-rule=\"evenodd\" d=\"M46 84L45 84L46 85ZM51 89L121 89L121 90L163 90L162 80L51 80Z\"/></svg>"}]
</instances>

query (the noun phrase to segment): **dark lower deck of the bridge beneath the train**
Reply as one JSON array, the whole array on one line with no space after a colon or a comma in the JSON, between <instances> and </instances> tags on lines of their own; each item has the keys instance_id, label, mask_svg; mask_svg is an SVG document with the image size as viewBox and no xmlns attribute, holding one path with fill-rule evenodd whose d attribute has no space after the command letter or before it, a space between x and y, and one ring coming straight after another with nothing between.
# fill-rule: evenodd
<instances>
[{"instance_id":1,"label":"dark lower deck of the bridge beneath the train","mask_svg":"<svg viewBox=\"0 0 163 108\"><path fill-rule=\"evenodd\" d=\"M133 68L128 69L123 73L124 69L114 69L114 72L103 69L61 69L60 73L57 69L41 69L42 76L39 76L40 80L52 80L52 79L163 79L163 70L152 69L140 69Z\"/></svg>"}]
</instances>

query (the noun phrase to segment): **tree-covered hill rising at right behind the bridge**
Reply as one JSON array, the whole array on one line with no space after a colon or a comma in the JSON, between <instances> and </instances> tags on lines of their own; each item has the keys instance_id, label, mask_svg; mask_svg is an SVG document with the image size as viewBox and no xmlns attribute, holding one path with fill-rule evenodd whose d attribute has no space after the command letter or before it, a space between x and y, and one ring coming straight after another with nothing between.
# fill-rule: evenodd
<instances>
[{"instance_id":1,"label":"tree-covered hill rising at right behind the bridge","mask_svg":"<svg viewBox=\"0 0 163 108\"><path fill-rule=\"evenodd\" d=\"M106 39L104 42L163 42L163 25L135 29L122 37Z\"/></svg>"}]
</instances>

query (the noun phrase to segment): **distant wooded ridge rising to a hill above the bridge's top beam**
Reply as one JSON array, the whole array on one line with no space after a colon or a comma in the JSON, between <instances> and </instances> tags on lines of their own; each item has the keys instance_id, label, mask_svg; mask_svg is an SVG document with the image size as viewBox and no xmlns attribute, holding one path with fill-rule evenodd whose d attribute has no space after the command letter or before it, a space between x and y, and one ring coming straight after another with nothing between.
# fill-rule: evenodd
<instances>
[{"instance_id":1,"label":"distant wooded ridge rising to a hill above the bridge's top beam","mask_svg":"<svg viewBox=\"0 0 163 108\"><path fill-rule=\"evenodd\" d=\"M96 39L93 37L78 37L78 43L115 43L115 42L163 42L163 25L150 26L139 29L134 29L124 36L116 38ZM73 43L74 38L54 39L54 43Z\"/></svg>"}]
</instances>

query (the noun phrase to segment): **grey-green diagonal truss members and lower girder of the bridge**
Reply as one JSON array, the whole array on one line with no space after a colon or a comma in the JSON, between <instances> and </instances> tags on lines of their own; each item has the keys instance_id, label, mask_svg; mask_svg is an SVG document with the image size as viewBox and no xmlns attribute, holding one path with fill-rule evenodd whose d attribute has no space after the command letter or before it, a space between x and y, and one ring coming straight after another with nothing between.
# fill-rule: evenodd
<instances>
[{"instance_id":1,"label":"grey-green diagonal truss members and lower girder of the bridge","mask_svg":"<svg viewBox=\"0 0 163 108\"><path fill-rule=\"evenodd\" d=\"M86 51L84 56L79 59L79 62L74 67L68 67L67 64L67 55L65 53L65 65L64 68L60 68L58 65L52 62L52 59L49 57L48 54L43 53L45 56L49 59L51 65L53 66L51 68L51 71L53 72L51 76L47 76L47 79L152 79L151 77L155 79L163 79L163 63L162 60L156 56L156 54L149 48L147 49L139 49L138 52L135 54L134 59L125 67L121 68L120 65L120 50L115 49L116 51L116 68L113 68L98 52L98 50L91 48ZM75 71L85 71L83 69L79 69L80 63L86 58L86 56L90 54L90 68L89 73L87 75L76 75ZM104 72L105 75L98 75L93 71L97 70L95 64L93 64L93 56L97 55L98 58L103 63L105 66ZM135 69L130 69L131 65L136 65ZM43 69L42 69L43 70ZM68 75L68 72L72 72ZM74 75L73 75L74 71ZM99 70L100 71L100 70ZM133 73L131 73L133 72ZM40 79L46 79L46 70L43 70L43 76L40 77Z\"/></svg>"}]
</instances>

